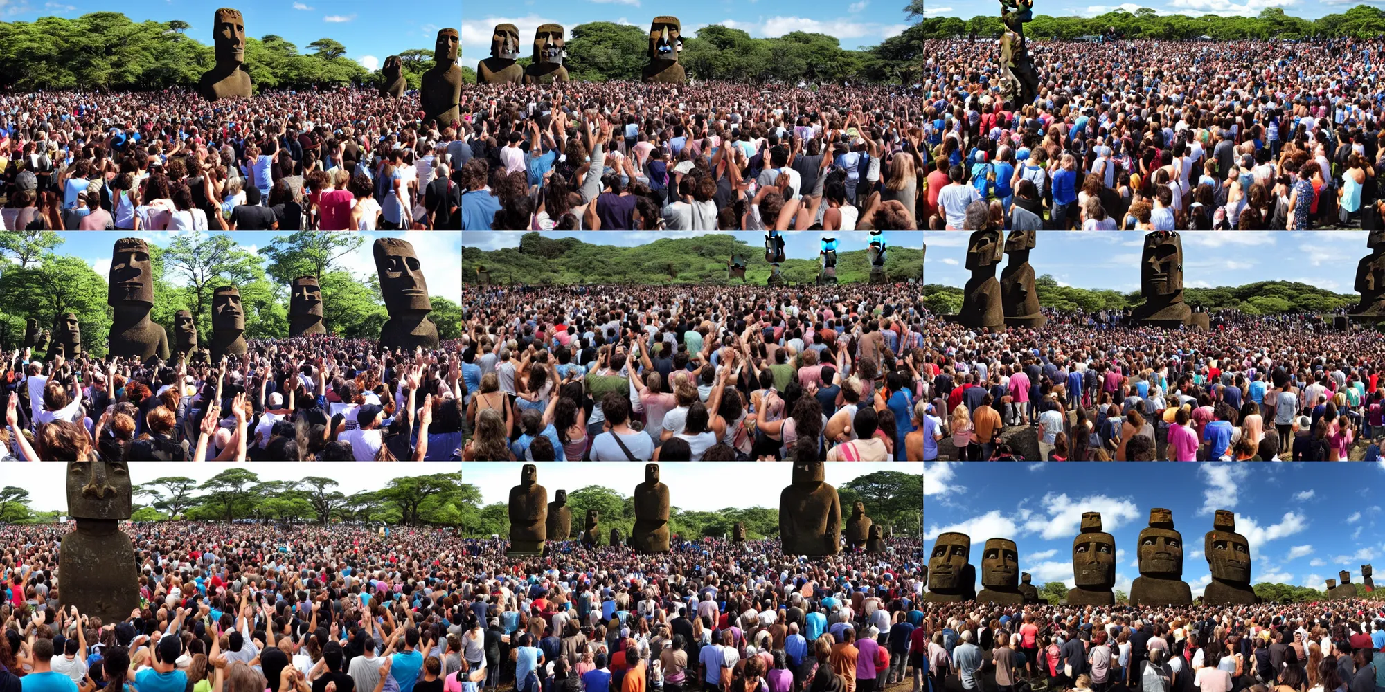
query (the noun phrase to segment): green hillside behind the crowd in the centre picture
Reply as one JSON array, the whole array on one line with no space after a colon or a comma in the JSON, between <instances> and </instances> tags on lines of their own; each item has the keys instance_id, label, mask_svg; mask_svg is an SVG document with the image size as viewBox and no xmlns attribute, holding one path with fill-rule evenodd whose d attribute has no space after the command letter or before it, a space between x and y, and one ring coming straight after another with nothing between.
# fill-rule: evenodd
<instances>
[{"instance_id":1,"label":"green hillside behind the crowd in the centre picture","mask_svg":"<svg viewBox=\"0 0 1385 692\"><path fill-rule=\"evenodd\" d=\"M476 280L476 264L501 284L726 284L726 262L731 255L747 257L745 281L763 285L770 275L763 245L748 245L733 235L661 238L648 245L618 248L593 245L576 238L544 238L526 233L519 248L482 252L463 241L461 270L465 281ZM895 281L918 278L924 251L891 248L885 273ZM780 264L789 284L810 284L817 278L817 257L789 259ZM866 282L870 262L866 251L837 253L837 281ZM740 284L740 280L733 282Z\"/></svg>"}]
</instances>

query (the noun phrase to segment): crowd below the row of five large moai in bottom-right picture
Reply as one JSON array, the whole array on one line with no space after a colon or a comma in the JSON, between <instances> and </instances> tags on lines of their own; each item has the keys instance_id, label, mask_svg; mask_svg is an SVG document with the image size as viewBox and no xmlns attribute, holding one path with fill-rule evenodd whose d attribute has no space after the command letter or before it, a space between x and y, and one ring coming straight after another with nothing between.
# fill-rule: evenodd
<instances>
[{"instance_id":1,"label":"crowd below the row of five large moai in bottom-right picture","mask_svg":"<svg viewBox=\"0 0 1385 692\"><path fill-rule=\"evenodd\" d=\"M1188 606L927 603L925 692L1375 692L1374 599Z\"/></svg>"}]
</instances>

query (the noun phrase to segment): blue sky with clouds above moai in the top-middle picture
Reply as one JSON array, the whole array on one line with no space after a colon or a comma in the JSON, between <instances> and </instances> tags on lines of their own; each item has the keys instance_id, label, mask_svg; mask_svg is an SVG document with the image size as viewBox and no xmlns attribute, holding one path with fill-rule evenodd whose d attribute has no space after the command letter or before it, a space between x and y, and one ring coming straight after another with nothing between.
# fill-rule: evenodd
<instances>
[{"instance_id":1,"label":"blue sky with clouds above moai in the top-middle picture","mask_svg":"<svg viewBox=\"0 0 1385 692\"><path fill-rule=\"evenodd\" d=\"M789 32L819 32L837 36L843 48L875 46L909 28L902 0L702 0L695 3L661 3L658 0L512 0L493 4L463 1L461 64L475 66L490 55L490 36L497 24L510 22L528 44L533 30L544 22L558 22L569 32L586 22L633 24L645 30L656 15L672 14L688 36L709 24L744 29L756 39ZM931 3L925 3L931 4ZM950 4L950 3L949 3ZM960 6L967 8L967 6Z\"/></svg>"}]
</instances>

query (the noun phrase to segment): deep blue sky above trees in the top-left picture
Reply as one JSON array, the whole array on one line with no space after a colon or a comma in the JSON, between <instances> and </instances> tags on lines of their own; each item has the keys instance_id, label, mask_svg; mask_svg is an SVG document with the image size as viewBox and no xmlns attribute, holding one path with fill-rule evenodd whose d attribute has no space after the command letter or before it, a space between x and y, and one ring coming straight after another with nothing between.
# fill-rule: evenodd
<instances>
[{"instance_id":1,"label":"deep blue sky above trees in the top-left picture","mask_svg":"<svg viewBox=\"0 0 1385 692\"><path fill-rule=\"evenodd\" d=\"M346 46L346 57L367 69L377 69L386 55L409 48L432 50L438 29L456 28L461 8L476 4L429 3L404 7L367 0L235 0L245 15L245 35L259 39L269 33L283 36L310 53L307 44L323 37L337 39ZM118 11L136 22L154 19L166 22L183 19L193 28L186 33L198 42L212 43L212 12L220 4L191 0L129 0L125 3L94 3L91 0L0 0L0 19L32 22L39 17L58 15L76 18L96 11ZM396 11L399 10L399 11Z\"/></svg>"}]
</instances>

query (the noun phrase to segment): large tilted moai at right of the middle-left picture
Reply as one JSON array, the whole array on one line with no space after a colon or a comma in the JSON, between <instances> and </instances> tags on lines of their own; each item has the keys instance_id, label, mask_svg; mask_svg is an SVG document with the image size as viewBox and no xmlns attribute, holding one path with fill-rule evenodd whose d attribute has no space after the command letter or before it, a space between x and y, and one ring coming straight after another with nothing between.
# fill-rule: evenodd
<instances>
[{"instance_id":1,"label":"large tilted moai at right of the middle-left picture","mask_svg":"<svg viewBox=\"0 0 1385 692\"><path fill-rule=\"evenodd\" d=\"M432 300L428 281L418 264L418 255L409 241L377 238L373 248L379 292L385 298L389 320L379 328L379 345L391 350L411 352L438 347L438 325L428 317Z\"/></svg>"}]
</instances>

